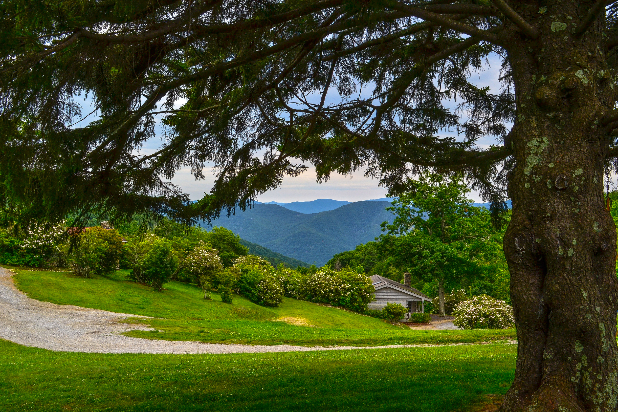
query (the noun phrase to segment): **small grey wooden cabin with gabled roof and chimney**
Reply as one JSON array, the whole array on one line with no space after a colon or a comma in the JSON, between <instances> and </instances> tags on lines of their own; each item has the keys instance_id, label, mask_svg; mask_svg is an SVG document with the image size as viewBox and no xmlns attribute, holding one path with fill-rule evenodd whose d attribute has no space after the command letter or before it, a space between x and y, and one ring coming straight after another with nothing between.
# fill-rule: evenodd
<instances>
[{"instance_id":1,"label":"small grey wooden cabin with gabled roof and chimney","mask_svg":"<svg viewBox=\"0 0 618 412\"><path fill-rule=\"evenodd\" d=\"M382 309L387 303L399 303L408 308L408 313L425 312L425 302L431 299L413 287L410 287L410 274L405 274L404 282L408 285L400 284L392 279L380 275L370 277L371 284L375 289L374 300L367 305L368 309Z\"/></svg>"}]
</instances>

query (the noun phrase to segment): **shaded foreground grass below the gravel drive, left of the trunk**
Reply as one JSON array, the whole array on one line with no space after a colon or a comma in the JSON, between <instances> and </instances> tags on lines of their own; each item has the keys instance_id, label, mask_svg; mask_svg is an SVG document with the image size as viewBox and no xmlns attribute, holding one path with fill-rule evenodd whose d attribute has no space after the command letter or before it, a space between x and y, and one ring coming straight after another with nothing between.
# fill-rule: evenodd
<instances>
[{"instance_id":1,"label":"shaded foreground grass below the gravel drive, left of the trunk","mask_svg":"<svg viewBox=\"0 0 618 412\"><path fill-rule=\"evenodd\" d=\"M0 339L0 411L472 411L512 382L515 345L101 355Z\"/></svg>"}]
</instances>

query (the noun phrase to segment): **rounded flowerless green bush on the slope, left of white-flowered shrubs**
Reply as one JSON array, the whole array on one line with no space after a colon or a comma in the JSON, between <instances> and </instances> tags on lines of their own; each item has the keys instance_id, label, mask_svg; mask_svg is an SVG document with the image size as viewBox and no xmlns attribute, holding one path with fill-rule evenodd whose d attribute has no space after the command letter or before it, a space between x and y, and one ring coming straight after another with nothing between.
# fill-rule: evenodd
<instances>
[{"instance_id":1,"label":"rounded flowerless green bush on the slope, left of white-flowered shrubs","mask_svg":"<svg viewBox=\"0 0 618 412\"><path fill-rule=\"evenodd\" d=\"M146 284L160 291L177 269L178 258L172 245L163 239L153 242L143 259L143 277Z\"/></svg>"}]
</instances>

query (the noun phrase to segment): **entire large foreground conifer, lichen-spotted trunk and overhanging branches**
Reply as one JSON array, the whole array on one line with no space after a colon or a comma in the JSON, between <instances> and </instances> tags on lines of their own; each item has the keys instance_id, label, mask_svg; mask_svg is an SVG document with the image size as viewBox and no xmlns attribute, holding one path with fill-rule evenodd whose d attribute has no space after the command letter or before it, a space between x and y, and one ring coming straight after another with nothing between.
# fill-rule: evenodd
<instances>
[{"instance_id":1,"label":"entire large foreground conifer, lichen-spotted trunk and overhanging branches","mask_svg":"<svg viewBox=\"0 0 618 412\"><path fill-rule=\"evenodd\" d=\"M294 159L320 180L367 165L394 193L423 168L462 172L496 218L508 185L519 360L503 409L616 410L616 231L603 201L618 153L610 4L4 2L5 216L209 219L302 172ZM503 59L498 94L467 80L490 53ZM84 128L79 93L101 116ZM464 120L442 105L454 98ZM156 115L166 141L144 156ZM464 138L440 137L444 128ZM485 135L504 144L478 148ZM203 200L166 183L183 165L201 177L206 162L218 179Z\"/></svg>"}]
</instances>

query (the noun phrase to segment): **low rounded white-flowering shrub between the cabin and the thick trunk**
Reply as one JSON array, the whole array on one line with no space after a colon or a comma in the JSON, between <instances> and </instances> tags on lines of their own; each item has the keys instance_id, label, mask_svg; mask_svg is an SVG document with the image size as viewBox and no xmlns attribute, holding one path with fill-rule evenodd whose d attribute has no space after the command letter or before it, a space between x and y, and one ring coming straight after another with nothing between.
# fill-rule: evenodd
<instances>
[{"instance_id":1,"label":"low rounded white-flowering shrub between the cabin and the thick trunk","mask_svg":"<svg viewBox=\"0 0 618 412\"><path fill-rule=\"evenodd\" d=\"M505 329L515 322L513 309L504 300L488 295L459 303L453 324L462 329Z\"/></svg>"}]
</instances>

